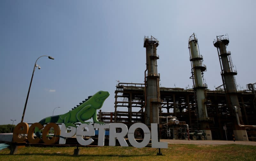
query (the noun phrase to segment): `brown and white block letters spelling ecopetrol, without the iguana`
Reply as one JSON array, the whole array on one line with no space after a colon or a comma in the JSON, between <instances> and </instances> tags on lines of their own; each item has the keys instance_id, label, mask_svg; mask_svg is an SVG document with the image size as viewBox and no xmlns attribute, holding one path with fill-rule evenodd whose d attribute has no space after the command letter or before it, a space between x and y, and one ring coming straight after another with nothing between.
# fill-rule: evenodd
<instances>
[{"instance_id":1,"label":"brown and white block letters spelling ecopetrol, without the iguana","mask_svg":"<svg viewBox=\"0 0 256 161\"><path fill-rule=\"evenodd\" d=\"M42 137L34 138L35 128L39 128L43 130ZM54 129L54 135L50 139L48 133L50 128ZM127 135L130 144L136 148L143 148L148 145L150 138L152 143L152 148L168 148L168 143L158 142L158 129L157 124L151 124L151 132L149 128L143 123L135 123L133 124L129 130L127 126L123 123L108 123L108 124L81 124L79 127L71 127L71 131L67 132L68 128L64 123L60 127L56 123L49 123L45 127L40 123L34 123L30 127L28 127L28 123L20 122L13 130L13 142L21 143L28 140L29 143L39 143L41 139L43 139L46 144L53 144L59 140L59 144L65 144L67 137L73 137L76 135L76 140L81 145L90 145L94 142L92 138L85 140L83 136L94 136L95 128L99 129L99 137L98 137L98 146L104 146L105 140L105 129L109 128L109 146L116 145L116 139L120 143L121 146L128 146L124 137ZM121 132L117 133L116 128L121 128ZM134 138L134 132L137 128L141 128L144 132L143 141L138 143ZM22 136L27 134L26 136Z\"/></svg>"}]
</instances>

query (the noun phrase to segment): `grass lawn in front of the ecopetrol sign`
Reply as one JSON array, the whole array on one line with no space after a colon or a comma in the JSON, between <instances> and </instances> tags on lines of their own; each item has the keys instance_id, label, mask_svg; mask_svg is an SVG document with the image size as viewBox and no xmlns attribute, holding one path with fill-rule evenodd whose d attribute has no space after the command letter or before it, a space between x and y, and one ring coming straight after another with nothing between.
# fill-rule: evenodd
<instances>
[{"instance_id":1,"label":"grass lawn in front of the ecopetrol sign","mask_svg":"<svg viewBox=\"0 0 256 161\"><path fill-rule=\"evenodd\" d=\"M73 156L75 147L22 147L15 155L9 149L0 150L0 160L127 160L127 161L255 161L256 146L251 145L194 145L169 144L161 149L163 156L156 156L156 148L134 148L120 146L80 147L80 155Z\"/></svg>"}]
</instances>

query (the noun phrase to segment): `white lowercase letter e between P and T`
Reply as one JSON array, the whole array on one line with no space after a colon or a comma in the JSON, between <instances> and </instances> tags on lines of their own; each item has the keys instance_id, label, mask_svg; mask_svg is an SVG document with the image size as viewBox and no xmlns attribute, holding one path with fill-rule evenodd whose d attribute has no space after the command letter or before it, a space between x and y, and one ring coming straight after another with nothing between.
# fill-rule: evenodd
<instances>
[{"instance_id":1,"label":"white lowercase letter e between P and T","mask_svg":"<svg viewBox=\"0 0 256 161\"><path fill-rule=\"evenodd\" d=\"M84 131L84 128L86 129L86 131ZM76 140L81 145L90 145L91 143L94 142L94 140L92 138L90 138L88 140L84 140L83 136L94 136L94 128L93 128L92 124L89 124L89 125L81 124L77 128Z\"/></svg>"}]
</instances>

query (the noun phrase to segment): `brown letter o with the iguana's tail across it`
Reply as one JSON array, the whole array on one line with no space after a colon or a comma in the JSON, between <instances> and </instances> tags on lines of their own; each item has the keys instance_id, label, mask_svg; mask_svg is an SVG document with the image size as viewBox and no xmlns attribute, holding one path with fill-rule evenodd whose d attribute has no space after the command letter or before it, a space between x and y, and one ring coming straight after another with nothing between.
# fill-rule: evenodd
<instances>
[{"instance_id":1,"label":"brown letter o with the iguana's tail across it","mask_svg":"<svg viewBox=\"0 0 256 161\"><path fill-rule=\"evenodd\" d=\"M54 135L55 136L53 136L52 139L48 138L48 136L51 136L51 135L48 135L50 128L54 129ZM60 127L56 123L52 123L51 122L51 123L48 123L44 127L44 131L43 131L43 135L42 135L44 143L46 143L46 144L54 144L54 143L56 143L60 139L59 136L60 136Z\"/></svg>"}]
</instances>

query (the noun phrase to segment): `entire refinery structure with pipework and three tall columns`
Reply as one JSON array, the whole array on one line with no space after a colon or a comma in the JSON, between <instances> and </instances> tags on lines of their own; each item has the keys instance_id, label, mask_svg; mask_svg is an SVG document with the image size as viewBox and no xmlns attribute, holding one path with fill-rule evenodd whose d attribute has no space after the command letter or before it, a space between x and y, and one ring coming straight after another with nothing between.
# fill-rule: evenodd
<instances>
[{"instance_id":1,"label":"entire refinery structure with pipework and three tall columns","mask_svg":"<svg viewBox=\"0 0 256 161\"><path fill-rule=\"evenodd\" d=\"M202 63L203 56L199 53L195 34L190 36L188 43L193 88L159 87L159 55L156 54L159 41L153 36L144 37L144 83L118 82L115 111L100 110L98 119L105 123L124 123L128 127L136 122L148 126L159 123L159 136L166 139L233 140L234 134L236 140L256 141L256 128L252 126L256 125L256 83L247 84L247 90L236 90L234 76L237 73L230 52L226 51L228 38L217 36L213 42L218 51L223 81L223 85L214 90L207 89L204 81L206 66ZM136 135L143 137L140 130Z\"/></svg>"}]
</instances>

